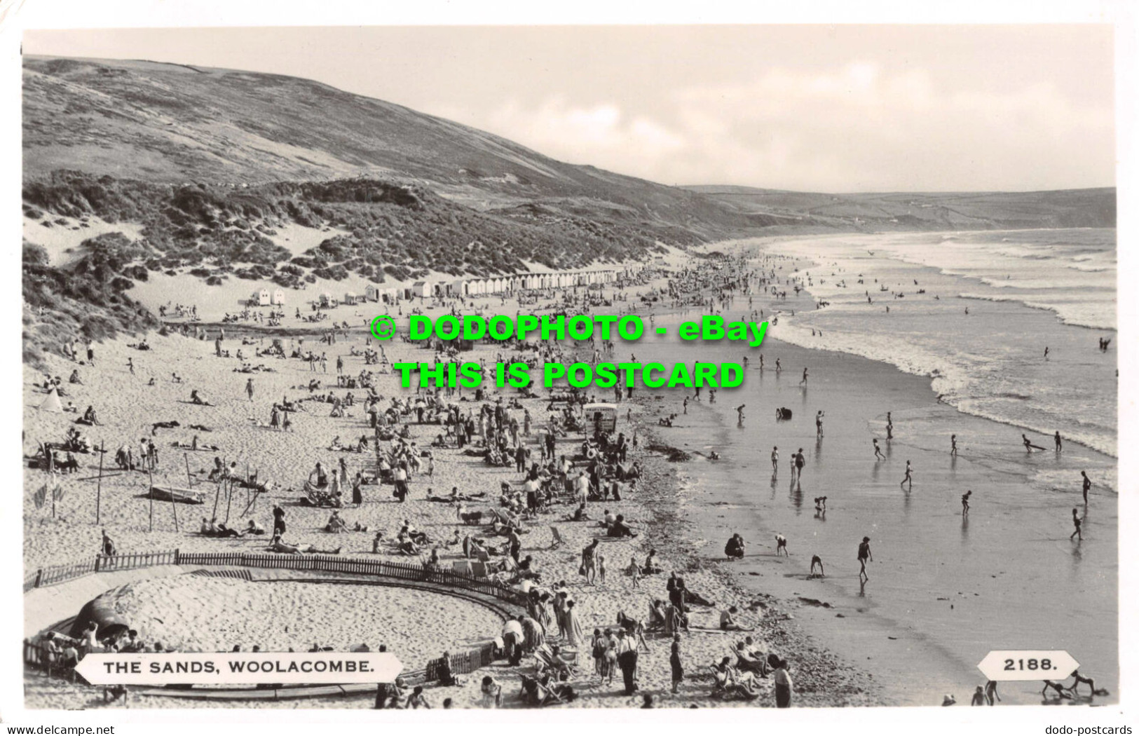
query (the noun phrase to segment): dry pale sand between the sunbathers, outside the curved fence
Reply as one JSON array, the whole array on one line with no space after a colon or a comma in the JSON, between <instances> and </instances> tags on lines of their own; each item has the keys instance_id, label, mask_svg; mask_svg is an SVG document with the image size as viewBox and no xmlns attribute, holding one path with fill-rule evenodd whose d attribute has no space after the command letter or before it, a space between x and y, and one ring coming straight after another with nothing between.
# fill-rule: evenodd
<instances>
[{"instance_id":1,"label":"dry pale sand between the sunbathers, outside the curved fence","mask_svg":"<svg viewBox=\"0 0 1139 736\"><path fill-rule=\"evenodd\" d=\"M491 306L487 302L490 300L484 302L483 306ZM513 311L515 308L510 302L507 302L505 306L497 303L498 300L494 302L493 308L495 309ZM229 335L239 332L239 326L237 328L227 326ZM347 342L341 338L335 345L320 347L327 349L329 355L344 354L344 370L352 375L363 368L363 360L349 357L346 353L351 346L363 347L370 340L364 334L354 332ZM179 420L182 427L158 430L157 437L155 437L156 444L159 447L159 473L155 475L155 483L186 484L187 459L183 459L181 450L175 450L170 443L174 441L188 442L194 432L183 427L189 424L210 427L212 430L210 433L198 433L200 441L221 448L218 452L186 453L192 476L203 477L212 465L214 456L218 455L224 457L227 461L237 461L238 467L244 467L245 463L248 463L251 471L256 469L261 479L279 483L282 489L289 486L296 489L318 460L322 460L327 466L337 463L342 453L323 449L329 445L333 436L338 435L342 441L350 442L360 435L370 434L367 422L359 410L353 412L352 409L349 409L344 419L334 419L327 416L330 404L316 402L306 402L308 410L293 416L293 432L282 433L257 426L259 422L261 424L267 422L265 415L271 401L286 394L289 398L297 398L308 393L306 390L294 389L294 386L306 384L313 376L306 362L298 360L267 361L273 373L260 373L253 376L255 395L251 402L244 393L245 382L249 376L232 371L233 367L238 365L236 359L215 358L212 342L194 341L173 335L167 337L151 336L149 338L151 350L149 351L130 349L126 346L128 342L134 341L123 338L96 345L96 366L93 368L80 367L84 385L68 385L71 395L65 396L64 401L74 402L81 411L89 403L97 403L103 426L95 427L88 436L96 442L105 441L108 450L113 447L116 448L120 442L137 442L139 437L149 437L150 425L154 422ZM232 351L236 350L239 341L235 336L228 337L227 342ZM306 344L309 344L309 340L306 340ZM393 361L407 358L419 360L426 359L421 357L427 355L418 347L401 343L391 343L386 350L388 358ZM246 351L252 351L252 346L246 346ZM493 352L491 347L481 346L474 351L473 358L485 357L487 360L492 360ZM128 359L134 363L134 375L131 375L126 368ZM52 358L52 360L58 359ZM58 360L58 363L54 365L52 368L52 373L66 375L74 366ZM181 377L181 383L172 383L171 374L174 371ZM318 377L334 381L333 371L334 368L330 365L329 374L321 373ZM153 386L147 385L151 376L155 377ZM35 376L28 374L25 384L25 426L27 428L25 450L27 452L34 450L34 437L62 436L72 418L68 415L51 415L35 409L42 401L42 393L36 392L31 386L34 378ZM387 377L382 384L380 393L391 395L401 392L395 386L394 381L394 377ZM215 406L199 407L186 403L190 389L197 389L205 400ZM88 394L88 391L91 393ZM336 393L343 394L343 390ZM493 399L493 395L491 398ZM528 400L524 401L524 404L530 407L535 417L544 416L544 400ZM638 422L641 414L640 402L633 402L632 406L634 422ZM622 425L624 425L623 420ZM620 428L631 433L631 427L621 426ZM437 431L437 427L412 426L412 436L421 445L425 445L434 436L433 431ZM367 453L361 456L350 452L343 453L343 457L347 463L350 475L354 474L357 468L372 464L372 457ZM433 539L445 539L450 537L456 526L454 509L448 505L425 501L428 489L432 489L436 494L442 494L452 486L458 486L462 492L486 491L493 498L501 481L513 481L518 477L513 468L487 468L481 461L465 457L454 450L436 450L435 458L435 475L429 479L424 475L413 476L411 497L407 504L393 502L390 486L364 486L363 506L344 509L342 515L350 524L360 523L371 530L385 530L388 535L394 535L402 521L408 518L417 528L427 531ZM96 474L96 468L91 465L92 459L92 456L88 456L80 460L84 467L77 474L79 477ZM801 693L803 704L866 705L879 702L872 680L843 663L841 657L811 643L797 622L782 613L779 602L767 595L757 595L737 587L731 576L724 575L716 565L704 565L688 554L690 549L688 540L675 533L675 529L672 529L667 521L667 513L661 510L662 507L667 506L666 499L674 498L675 467L653 456L645 457L645 463L646 477L638 492L628 496L621 502L591 505L604 506L612 508L614 513L622 513L632 520L636 526L646 530L646 533L634 540L607 543L603 547L607 558L606 565L609 570L605 586L585 586L577 575L580 549L601 532L596 523L565 522L566 514L572 509L559 506L555 507L555 513L543 517L538 524L530 525L528 533L523 537L523 554L534 556L542 571L543 583L550 584L558 580L566 580L571 589L574 590L574 597L579 600L579 610L582 612L583 628L591 631L598 627L612 627L618 611L642 618L646 615L652 598L665 597L664 578L666 575L647 578L641 581L638 589L633 590L630 586L630 579L621 574L630 557L644 559L649 548L655 548L666 571L683 571L689 587L700 591L716 604L714 608L697 610L694 613L694 625L715 627L720 608L737 605L744 612L741 619L748 625L759 627L756 637L765 643L771 651L786 652L787 654L794 652L794 659L798 663L796 665L797 690ZM51 518L50 508L36 509L31 500L31 491L41 482L40 476L33 473L30 473L25 481L28 492L25 494L24 549L25 565L30 569L90 556L98 549L101 528L107 530L122 551L175 547L182 550L239 549L261 551L265 546L264 539L219 540L188 533L188 530L196 531L202 516L210 515L212 502L198 507L179 505L181 531L174 530L171 505L155 502L154 531L148 531L150 504L146 498L141 498L148 488L147 477L142 473L128 473L103 482L101 526L95 524L96 489L93 482L82 482L76 476L65 476L62 483L66 489L66 496L65 500L57 506L56 518ZM204 485L203 488L212 491L213 485ZM269 496L269 498L260 499L256 508L251 513L252 517L267 528L272 524L271 505L280 502L287 510L287 537L290 541L311 543L320 548L343 546L345 555L371 556L371 533L328 534L321 530L328 518L327 509L297 506L300 492L296 490L282 490ZM235 499L232 505L230 524L233 526L245 524L245 518L239 517L240 509L238 507L244 506L241 500L244 499ZM224 517L224 505L223 499L219 517ZM600 512L600 508L591 508L590 513L596 518ZM663 517L659 516L662 513L664 513ZM659 521L659 518L664 521ZM558 525L566 540L565 546L555 550L549 550L552 539L549 530L550 524ZM456 557L453 553L445 549L442 551L444 563ZM253 636L252 631L245 633ZM495 636L498 633L497 627L491 627L484 633L491 637ZM298 641L297 648L308 646L310 644L308 638ZM700 705L711 703L707 698L707 694L711 692L711 680L710 676L705 673L708 671L707 665L729 653L727 637L718 632L697 632L686 639L686 669L689 670L693 679L686 682L681 687L680 694L675 696L667 694L666 645L658 640L655 640L654 644L653 653L642 654L640 660L641 687L646 692L659 694L662 705L687 706L691 703ZM395 651L394 646L393 651ZM584 669L591 670L591 662L584 662ZM510 668L495 667L494 676L499 679L515 679L518 677L518 672ZM581 684L581 697L575 705L595 708L628 706L631 704L630 698L621 695L621 689L616 684L612 687L601 687L593 680L596 678L587 678ZM769 682L769 680L761 680L761 686L770 687ZM515 685L509 685L505 689L516 692L517 688ZM464 701L460 695L446 693L446 695L456 697L456 703L459 705L474 702L474 698L477 697L477 686L470 690L470 694L472 700ZM442 697L442 694L439 697ZM58 690L58 686L41 687L36 685L28 692L28 704L33 706L62 706L67 696L62 695ZM150 702L158 698L144 700L146 701L144 704L148 706L170 705L167 702ZM633 700L639 702L639 698ZM771 694L762 696L757 703L772 704ZM370 701L357 698L346 704L367 708L370 706Z\"/></svg>"}]
</instances>

